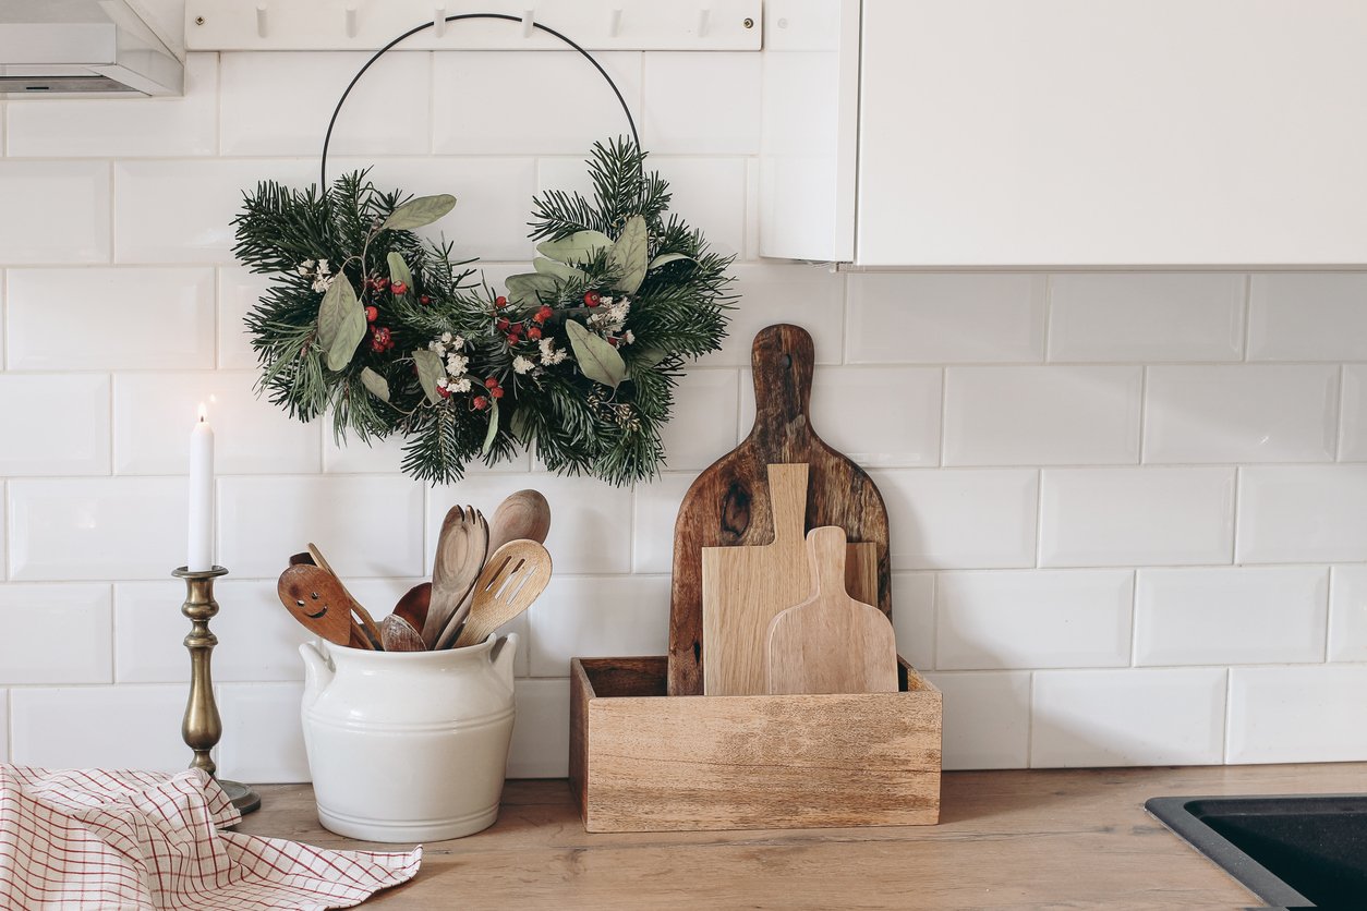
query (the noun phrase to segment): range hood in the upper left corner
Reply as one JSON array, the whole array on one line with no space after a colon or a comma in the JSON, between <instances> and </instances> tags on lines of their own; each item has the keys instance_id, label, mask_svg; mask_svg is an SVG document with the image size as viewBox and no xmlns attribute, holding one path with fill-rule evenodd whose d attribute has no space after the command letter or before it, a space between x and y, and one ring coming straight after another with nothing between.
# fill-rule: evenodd
<instances>
[{"instance_id":1,"label":"range hood in the upper left corner","mask_svg":"<svg viewBox=\"0 0 1367 911\"><path fill-rule=\"evenodd\" d=\"M0 0L0 100L183 90L180 60L126 0Z\"/></svg>"}]
</instances>

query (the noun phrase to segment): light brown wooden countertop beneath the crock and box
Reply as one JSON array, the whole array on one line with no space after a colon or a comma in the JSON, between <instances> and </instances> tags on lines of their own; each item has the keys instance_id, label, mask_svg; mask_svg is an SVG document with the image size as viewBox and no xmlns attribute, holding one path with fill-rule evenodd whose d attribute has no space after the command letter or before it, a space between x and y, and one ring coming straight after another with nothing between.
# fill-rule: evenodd
<instances>
[{"instance_id":1,"label":"light brown wooden countertop beneath the crock and box","mask_svg":"<svg viewBox=\"0 0 1367 911\"><path fill-rule=\"evenodd\" d=\"M321 829L264 785L241 832ZM1165 795L1367 791L1367 763L945 773L936 826L589 835L565 781L509 781L499 821L429 843L366 908L1241 908L1241 885L1144 813Z\"/></svg>"}]
</instances>

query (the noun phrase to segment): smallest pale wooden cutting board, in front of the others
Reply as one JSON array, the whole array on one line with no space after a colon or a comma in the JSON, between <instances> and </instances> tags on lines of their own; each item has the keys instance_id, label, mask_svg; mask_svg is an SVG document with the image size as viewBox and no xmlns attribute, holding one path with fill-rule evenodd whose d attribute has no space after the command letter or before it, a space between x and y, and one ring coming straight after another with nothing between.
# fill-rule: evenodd
<instances>
[{"instance_id":1,"label":"smallest pale wooden cutting board, in front of the others","mask_svg":"<svg viewBox=\"0 0 1367 911\"><path fill-rule=\"evenodd\" d=\"M897 692L893 624L845 593L845 531L812 529L807 549L813 594L770 624L768 692Z\"/></svg>"}]
</instances>

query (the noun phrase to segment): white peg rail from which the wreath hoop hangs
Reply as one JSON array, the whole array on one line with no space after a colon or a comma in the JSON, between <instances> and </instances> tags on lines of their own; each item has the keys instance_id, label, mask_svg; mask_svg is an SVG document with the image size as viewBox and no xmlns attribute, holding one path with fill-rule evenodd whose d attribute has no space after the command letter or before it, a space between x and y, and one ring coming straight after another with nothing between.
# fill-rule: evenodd
<instances>
[{"instance_id":1,"label":"white peg rail from which the wreath hoop hangs","mask_svg":"<svg viewBox=\"0 0 1367 911\"><path fill-rule=\"evenodd\" d=\"M433 25L407 51L759 51L763 0L186 0L190 51L373 51L424 22L498 12L519 22Z\"/></svg>"}]
</instances>

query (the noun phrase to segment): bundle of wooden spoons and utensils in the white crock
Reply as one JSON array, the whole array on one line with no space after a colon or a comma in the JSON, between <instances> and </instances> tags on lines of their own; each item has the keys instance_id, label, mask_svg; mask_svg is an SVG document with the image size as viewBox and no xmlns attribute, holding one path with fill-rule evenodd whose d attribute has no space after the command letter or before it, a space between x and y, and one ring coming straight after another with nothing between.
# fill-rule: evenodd
<instances>
[{"instance_id":1,"label":"bundle of wooden spoons and utensils in the white crock","mask_svg":"<svg viewBox=\"0 0 1367 911\"><path fill-rule=\"evenodd\" d=\"M335 645L379 651L463 647L526 611L551 579L543 542L551 509L518 490L493 514L451 507L437 537L432 582L413 586L380 624L351 597L313 544L290 557L278 593L290 615ZM492 556L489 552L492 550Z\"/></svg>"}]
</instances>

